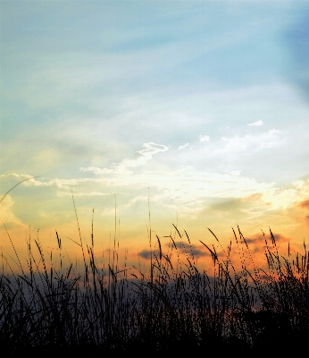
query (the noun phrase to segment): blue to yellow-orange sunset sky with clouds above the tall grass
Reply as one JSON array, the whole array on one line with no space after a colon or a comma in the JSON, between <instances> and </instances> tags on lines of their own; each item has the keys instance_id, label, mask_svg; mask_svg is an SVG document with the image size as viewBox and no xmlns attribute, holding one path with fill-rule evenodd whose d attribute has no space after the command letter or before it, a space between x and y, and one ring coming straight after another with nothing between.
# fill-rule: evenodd
<instances>
[{"instance_id":1,"label":"blue to yellow-orange sunset sky with clouds above the tall grass","mask_svg":"<svg viewBox=\"0 0 309 358\"><path fill-rule=\"evenodd\" d=\"M97 247L116 236L130 260L149 259L150 231L168 247L172 224L201 259L207 228L226 246L239 226L262 254L269 227L282 247L308 240L308 1L2 0L0 13L0 197L35 177L0 204L4 253L9 235L53 248L57 230L78 255L92 217Z\"/></svg>"}]
</instances>

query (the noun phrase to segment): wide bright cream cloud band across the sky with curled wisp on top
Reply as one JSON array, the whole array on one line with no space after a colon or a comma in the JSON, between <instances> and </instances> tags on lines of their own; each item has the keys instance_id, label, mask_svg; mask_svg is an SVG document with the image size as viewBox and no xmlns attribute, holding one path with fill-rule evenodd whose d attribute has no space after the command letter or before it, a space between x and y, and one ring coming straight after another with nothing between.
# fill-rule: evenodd
<instances>
[{"instance_id":1,"label":"wide bright cream cloud band across the sky with curled wisp on top","mask_svg":"<svg viewBox=\"0 0 309 358\"><path fill-rule=\"evenodd\" d=\"M272 130L277 135L277 130ZM168 147L147 143L138 150L136 163L145 163L154 153ZM141 160L143 158L144 161ZM121 193L119 209L130 209L146 202L146 191L151 188L152 202L157 208L175 210L182 217L194 218L205 210L234 213L242 219L263 217L270 210L281 210L302 205L309 197L309 181L296 181L288 187L275 187L275 183L259 182L253 177L242 175L240 171L212 173L204 168L177 166L172 170L158 170L154 166L126 167L128 160L113 163L109 167L81 167L82 172L90 172L96 177L72 179L36 178L22 183L33 187L50 187L58 197L71 196L71 186L75 185L74 195L80 197L102 197L108 199L111 193ZM131 162L129 164L132 164ZM161 168L161 166L160 166ZM130 170L129 170L130 169ZM28 178L30 175L6 175L8 178ZM4 175L2 175L4 179ZM11 179L10 179L11 180ZM13 185L12 185L13 186ZM123 194L123 195L122 195ZM300 204L302 203L302 204ZM213 210L214 209L214 210ZM207 211L209 212L209 211ZM196 248L198 249L198 248Z\"/></svg>"}]
</instances>

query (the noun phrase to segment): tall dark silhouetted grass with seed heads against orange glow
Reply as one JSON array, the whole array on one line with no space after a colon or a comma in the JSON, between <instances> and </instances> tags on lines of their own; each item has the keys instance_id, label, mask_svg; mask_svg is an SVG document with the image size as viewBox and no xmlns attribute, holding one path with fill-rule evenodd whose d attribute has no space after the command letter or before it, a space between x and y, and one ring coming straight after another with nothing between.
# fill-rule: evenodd
<instances>
[{"instance_id":1,"label":"tall dark silhouetted grass with seed heads against orange glow","mask_svg":"<svg viewBox=\"0 0 309 358\"><path fill-rule=\"evenodd\" d=\"M221 247L222 256L204 242L211 261L197 268L188 234L174 228L167 252L150 232L155 250L144 271L119 264L115 240L108 262L100 264L93 231L90 245L81 236L75 242L82 251L81 268L78 263L64 265L57 233L58 257L53 251L46 257L37 237L34 243L29 240L27 264L22 266L7 232L15 254L11 262L19 269L3 256L2 352L278 354L290 347L301 352L309 333L305 244L303 254L288 250L280 256L270 230L264 245L267 268L257 268L238 228L234 250L240 269L231 259L231 243L226 250ZM181 244L187 250L180 250Z\"/></svg>"}]
</instances>

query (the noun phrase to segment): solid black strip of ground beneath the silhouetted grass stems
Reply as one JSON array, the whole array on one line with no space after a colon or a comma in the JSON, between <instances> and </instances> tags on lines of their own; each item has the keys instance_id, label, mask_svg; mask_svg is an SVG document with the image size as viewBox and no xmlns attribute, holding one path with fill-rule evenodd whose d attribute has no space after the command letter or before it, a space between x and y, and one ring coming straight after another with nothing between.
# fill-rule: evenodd
<instances>
[{"instance_id":1,"label":"solid black strip of ground beneath the silhouetted grass stems","mask_svg":"<svg viewBox=\"0 0 309 358\"><path fill-rule=\"evenodd\" d=\"M208 356L282 356L296 357L307 356L309 332L298 333L296 337L267 336L261 338L255 345L248 345L238 338L230 338L223 342L216 337L210 337L210 340L201 344L190 344L175 342L170 343L168 347L159 348L150 344L131 342L123 345L121 348L108 349L98 345L77 345L75 347L65 347L56 345L31 347L10 347L1 345L1 355L7 357L190 357L195 354L196 357Z\"/></svg>"}]
</instances>

